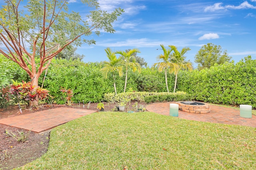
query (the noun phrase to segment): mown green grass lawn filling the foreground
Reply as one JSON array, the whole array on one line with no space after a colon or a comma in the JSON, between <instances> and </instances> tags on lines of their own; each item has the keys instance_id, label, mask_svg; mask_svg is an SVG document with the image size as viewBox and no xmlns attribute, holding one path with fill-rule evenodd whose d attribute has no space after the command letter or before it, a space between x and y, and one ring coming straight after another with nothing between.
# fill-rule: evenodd
<instances>
[{"instance_id":1,"label":"mown green grass lawn filling the foreground","mask_svg":"<svg viewBox=\"0 0 256 170\"><path fill-rule=\"evenodd\" d=\"M51 131L48 152L18 169L256 169L256 128L152 112L98 112Z\"/></svg>"}]
</instances>

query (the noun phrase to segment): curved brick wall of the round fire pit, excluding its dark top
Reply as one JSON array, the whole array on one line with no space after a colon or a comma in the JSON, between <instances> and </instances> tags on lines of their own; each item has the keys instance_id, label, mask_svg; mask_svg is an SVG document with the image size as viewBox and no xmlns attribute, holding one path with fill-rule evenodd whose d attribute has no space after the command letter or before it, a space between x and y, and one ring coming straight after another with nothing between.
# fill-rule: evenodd
<instances>
[{"instance_id":1,"label":"curved brick wall of the round fire pit, excluding its dark top","mask_svg":"<svg viewBox=\"0 0 256 170\"><path fill-rule=\"evenodd\" d=\"M190 105L176 102L179 105L179 110L189 112L189 113L209 113L210 105L204 103L204 105Z\"/></svg>"}]
</instances>

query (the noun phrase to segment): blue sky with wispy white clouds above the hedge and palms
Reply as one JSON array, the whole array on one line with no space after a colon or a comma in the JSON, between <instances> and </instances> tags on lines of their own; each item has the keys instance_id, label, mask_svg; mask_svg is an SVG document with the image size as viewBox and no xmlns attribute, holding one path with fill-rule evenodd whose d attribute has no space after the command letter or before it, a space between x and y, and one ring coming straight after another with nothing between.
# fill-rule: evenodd
<instances>
[{"instance_id":1,"label":"blue sky with wispy white clouds above the hedge and palms","mask_svg":"<svg viewBox=\"0 0 256 170\"><path fill-rule=\"evenodd\" d=\"M114 23L116 33L102 32L96 45L82 45L78 53L85 62L107 60L104 49L138 48L149 66L161 54L160 44L190 47L186 59L194 62L198 50L207 43L220 45L235 62L251 55L256 59L256 0L99 0L101 9L121 7L124 14ZM87 14L78 0L70 9ZM194 64L196 67L197 64Z\"/></svg>"}]
</instances>

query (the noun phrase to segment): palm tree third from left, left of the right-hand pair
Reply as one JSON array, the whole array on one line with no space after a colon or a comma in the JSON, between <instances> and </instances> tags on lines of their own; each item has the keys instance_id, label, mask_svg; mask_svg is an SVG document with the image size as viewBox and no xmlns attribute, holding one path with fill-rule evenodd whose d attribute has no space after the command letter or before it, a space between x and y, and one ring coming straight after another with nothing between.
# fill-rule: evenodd
<instances>
[{"instance_id":1,"label":"palm tree third from left, left of the right-hand pair","mask_svg":"<svg viewBox=\"0 0 256 170\"><path fill-rule=\"evenodd\" d=\"M162 50L164 51L164 54L162 55L158 55L157 59L158 61L162 60L162 62L159 63L155 63L154 66L158 67L158 70L160 72L162 72L164 70L165 72L165 84L166 84L166 88L167 88L167 92L169 93L169 89L168 89L168 82L167 82L167 70L169 71L169 73L174 72L176 74L176 72L178 71L178 64L176 63L172 63L172 61L169 60L169 56L172 52L172 49L168 48L166 49L164 47L164 45L160 45L162 47Z\"/></svg>"}]
</instances>

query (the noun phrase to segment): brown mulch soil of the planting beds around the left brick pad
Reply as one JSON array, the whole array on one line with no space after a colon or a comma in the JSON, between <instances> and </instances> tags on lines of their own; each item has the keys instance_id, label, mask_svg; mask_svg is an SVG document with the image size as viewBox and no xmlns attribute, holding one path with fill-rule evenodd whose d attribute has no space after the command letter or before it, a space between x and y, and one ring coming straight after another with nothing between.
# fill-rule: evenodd
<instances>
[{"instance_id":1,"label":"brown mulch soil of the planting beds around the left brick pad","mask_svg":"<svg viewBox=\"0 0 256 170\"><path fill-rule=\"evenodd\" d=\"M33 114L37 111L43 111L47 109L53 109L56 107L72 107L79 109L96 110L98 103L90 104L75 104L73 106L66 105L45 105L38 108L22 109L20 113L18 106L12 106L8 109L0 109L0 119L13 117L23 114ZM138 106L146 107L147 104L139 103ZM104 111L114 111L117 104L104 103ZM128 103L126 111L136 111L134 103ZM6 134L6 130L19 136L19 132L29 133L28 140L24 143L16 141L13 137ZM50 140L50 131L46 131L42 134L36 134L24 129L16 127L10 127L8 125L0 124L0 169L10 170L12 168L20 167L28 162L35 160L47 152L47 148Z\"/></svg>"}]
</instances>

